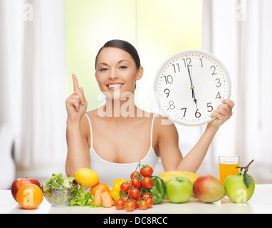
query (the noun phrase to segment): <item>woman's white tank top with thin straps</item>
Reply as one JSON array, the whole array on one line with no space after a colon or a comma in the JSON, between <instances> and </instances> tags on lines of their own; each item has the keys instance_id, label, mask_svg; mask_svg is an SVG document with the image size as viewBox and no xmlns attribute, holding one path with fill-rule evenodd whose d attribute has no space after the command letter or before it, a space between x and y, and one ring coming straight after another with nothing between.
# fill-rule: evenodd
<instances>
[{"instance_id":1,"label":"woman's white tank top with thin straps","mask_svg":"<svg viewBox=\"0 0 272 228\"><path fill-rule=\"evenodd\" d=\"M90 124L90 118L88 118ZM155 150L152 147L152 132L155 116L152 119L151 132L150 132L150 149L147 155L141 160L141 165L150 165L153 170L159 161L159 157L156 155ZM99 177L99 182L105 182L110 187L113 186L113 181L117 178L124 180L130 179L130 174L135 171L139 162L133 163L115 163L103 160L93 149L93 131L92 125L90 124L90 168L94 170Z\"/></svg>"}]
</instances>

